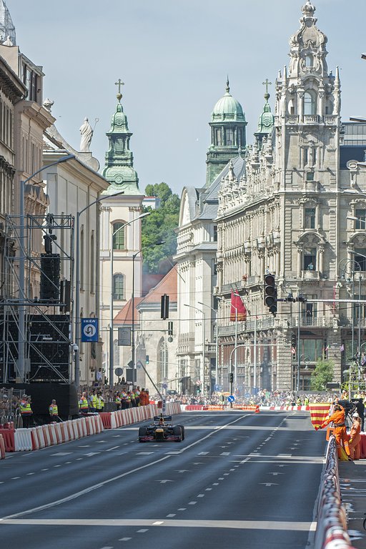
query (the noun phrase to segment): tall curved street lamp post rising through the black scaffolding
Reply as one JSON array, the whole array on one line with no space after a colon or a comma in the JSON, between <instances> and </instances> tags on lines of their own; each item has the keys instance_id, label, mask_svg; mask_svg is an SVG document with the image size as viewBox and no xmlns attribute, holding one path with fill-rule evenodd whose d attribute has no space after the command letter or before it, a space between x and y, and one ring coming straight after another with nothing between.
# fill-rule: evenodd
<instances>
[{"instance_id":1,"label":"tall curved street lamp post rising through the black scaffolding","mask_svg":"<svg viewBox=\"0 0 366 549\"><path fill-rule=\"evenodd\" d=\"M19 187L19 240L20 240L20 249L19 249L19 310L18 310L18 374L21 381L25 381L26 367L25 367L25 246L24 246L24 192L25 185L28 183L34 176L43 172L44 169L56 166L56 164L62 164L62 162L67 162L75 158L74 154L66 154L66 156L42 166L40 169L37 169L34 174L31 174L29 177L20 182Z\"/></svg>"}]
</instances>

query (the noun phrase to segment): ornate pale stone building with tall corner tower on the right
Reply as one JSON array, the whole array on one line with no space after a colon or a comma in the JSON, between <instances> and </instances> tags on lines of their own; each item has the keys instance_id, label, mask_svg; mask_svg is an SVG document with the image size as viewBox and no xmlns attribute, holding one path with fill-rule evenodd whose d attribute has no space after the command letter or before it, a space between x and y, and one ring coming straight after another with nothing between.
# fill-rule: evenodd
<instances>
[{"instance_id":1,"label":"ornate pale stone building with tall corner tower on the right","mask_svg":"<svg viewBox=\"0 0 366 549\"><path fill-rule=\"evenodd\" d=\"M366 291L366 177L357 162L365 152L349 144L352 128L341 123L339 71L327 69L327 37L316 23L307 0L290 39L290 64L277 76L273 130L256 134L242 179L229 172L219 190L216 292L223 300L224 372L232 368L235 346L232 289L248 311L237 330L237 392L309 390L322 357L334 360L335 381L344 381L362 343L364 305L337 300ZM276 317L264 305L267 273L276 280ZM300 302L285 301L289 295Z\"/></svg>"}]
</instances>

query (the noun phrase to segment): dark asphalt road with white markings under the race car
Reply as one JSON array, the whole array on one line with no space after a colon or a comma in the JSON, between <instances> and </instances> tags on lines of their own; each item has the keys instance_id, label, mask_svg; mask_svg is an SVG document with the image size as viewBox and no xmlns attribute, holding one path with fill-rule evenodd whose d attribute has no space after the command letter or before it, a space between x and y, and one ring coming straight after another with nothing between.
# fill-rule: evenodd
<instances>
[{"instance_id":1,"label":"dark asphalt road with white markings under the race car","mask_svg":"<svg viewBox=\"0 0 366 549\"><path fill-rule=\"evenodd\" d=\"M311 547L325 437L307 412L174 422L183 442L133 425L0 462L1 549Z\"/></svg>"}]
</instances>

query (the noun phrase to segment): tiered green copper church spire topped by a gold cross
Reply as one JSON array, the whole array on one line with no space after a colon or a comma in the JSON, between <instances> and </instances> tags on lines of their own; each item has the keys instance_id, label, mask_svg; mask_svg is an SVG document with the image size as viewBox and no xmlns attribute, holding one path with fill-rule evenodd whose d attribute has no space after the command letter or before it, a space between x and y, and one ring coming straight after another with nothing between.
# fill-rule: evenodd
<instances>
[{"instance_id":1,"label":"tiered green copper church spire topped by a gold cross","mask_svg":"<svg viewBox=\"0 0 366 549\"><path fill-rule=\"evenodd\" d=\"M109 182L109 188L104 194L141 194L139 191L139 177L134 169L134 155L129 150L129 140L132 132L129 131L127 116L123 112L121 104L121 86L124 82L119 79L115 82L118 86L116 112L111 119L111 128L107 132L109 149L106 152L106 163L103 176Z\"/></svg>"}]
</instances>

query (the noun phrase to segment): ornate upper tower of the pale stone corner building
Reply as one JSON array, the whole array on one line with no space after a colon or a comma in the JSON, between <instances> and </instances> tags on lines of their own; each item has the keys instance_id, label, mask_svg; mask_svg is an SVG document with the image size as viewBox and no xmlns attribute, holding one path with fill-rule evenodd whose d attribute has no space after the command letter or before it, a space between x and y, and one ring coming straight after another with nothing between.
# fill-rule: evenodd
<instances>
[{"instance_id":1,"label":"ornate upper tower of the pale stone corner building","mask_svg":"<svg viewBox=\"0 0 366 549\"><path fill-rule=\"evenodd\" d=\"M339 154L340 78L327 71L327 36L315 6L302 6L290 39L290 65L276 81L277 170L282 189L335 190Z\"/></svg>"}]
</instances>

